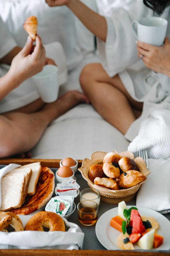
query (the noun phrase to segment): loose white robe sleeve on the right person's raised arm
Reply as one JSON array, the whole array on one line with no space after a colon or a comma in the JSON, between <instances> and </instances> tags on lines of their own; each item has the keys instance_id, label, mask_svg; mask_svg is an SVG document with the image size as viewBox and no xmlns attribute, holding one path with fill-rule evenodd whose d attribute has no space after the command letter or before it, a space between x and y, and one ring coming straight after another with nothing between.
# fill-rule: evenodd
<instances>
[{"instance_id":1,"label":"loose white robe sleeve on the right person's raised arm","mask_svg":"<svg viewBox=\"0 0 170 256\"><path fill-rule=\"evenodd\" d=\"M139 60L132 21L140 19L144 13L145 16L151 16L153 13L142 1L132 1L125 7L114 8L112 15L105 17L107 22L106 42L97 39L101 63L110 77L130 68Z\"/></svg>"}]
</instances>

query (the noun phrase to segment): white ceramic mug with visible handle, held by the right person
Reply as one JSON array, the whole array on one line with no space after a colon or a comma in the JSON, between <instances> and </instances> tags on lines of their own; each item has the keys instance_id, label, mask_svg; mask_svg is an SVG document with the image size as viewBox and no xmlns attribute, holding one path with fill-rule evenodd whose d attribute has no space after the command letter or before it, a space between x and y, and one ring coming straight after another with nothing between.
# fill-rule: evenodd
<instances>
[{"instance_id":1,"label":"white ceramic mug with visible handle, held by the right person","mask_svg":"<svg viewBox=\"0 0 170 256\"><path fill-rule=\"evenodd\" d=\"M162 46L168 22L160 17L145 17L132 22L132 29L138 41Z\"/></svg>"}]
</instances>

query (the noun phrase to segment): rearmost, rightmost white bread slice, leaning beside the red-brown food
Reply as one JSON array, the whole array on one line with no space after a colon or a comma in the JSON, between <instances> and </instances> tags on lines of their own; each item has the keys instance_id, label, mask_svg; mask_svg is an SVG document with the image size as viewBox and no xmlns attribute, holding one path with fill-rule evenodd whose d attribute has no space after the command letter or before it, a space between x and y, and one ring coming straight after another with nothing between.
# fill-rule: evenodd
<instances>
[{"instance_id":1,"label":"rearmost, rightmost white bread slice, leaning beside the red-brown food","mask_svg":"<svg viewBox=\"0 0 170 256\"><path fill-rule=\"evenodd\" d=\"M23 165L19 167L19 169L26 168L26 167L30 167L32 169L32 175L31 175L29 186L28 186L28 194L27 194L28 196L32 196L36 192L36 185L38 182L39 174L41 172L41 163L40 162L29 163L28 165Z\"/></svg>"}]
</instances>

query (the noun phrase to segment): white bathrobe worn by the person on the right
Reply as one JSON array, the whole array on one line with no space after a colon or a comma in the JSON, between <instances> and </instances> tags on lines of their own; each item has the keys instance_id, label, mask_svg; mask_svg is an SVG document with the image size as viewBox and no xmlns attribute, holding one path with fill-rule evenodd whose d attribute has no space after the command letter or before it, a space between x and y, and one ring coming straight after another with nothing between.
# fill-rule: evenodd
<instances>
[{"instance_id":1,"label":"white bathrobe worn by the person on the right","mask_svg":"<svg viewBox=\"0 0 170 256\"><path fill-rule=\"evenodd\" d=\"M126 0L115 3L97 0L99 12L107 21L106 42L98 39L99 57L110 77L119 74L121 81L133 99L144 101L143 113L130 127L125 137L132 141L138 134L141 121L149 116L149 109L156 104L170 103L170 80L163 74L148 69L137 56L136 38L132 21L142 17L157 16L142 0ZM102 4L103 3L103 4ZM166 8L161 15L168 20L167 36L170 34L170 14ZM170 38L170 37L169 37Z\"/></svg>"}]
</instances>

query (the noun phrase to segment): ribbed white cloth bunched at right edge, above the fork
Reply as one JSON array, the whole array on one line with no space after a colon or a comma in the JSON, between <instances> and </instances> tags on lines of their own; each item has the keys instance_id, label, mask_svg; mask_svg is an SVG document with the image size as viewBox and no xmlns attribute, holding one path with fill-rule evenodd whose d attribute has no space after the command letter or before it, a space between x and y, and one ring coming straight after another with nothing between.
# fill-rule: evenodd
<instances>
[{"instance_id":1,"label":"ribbed white cloth bunched at right edge, above the fork","mask_svg":"<svg viewBox=\"0 0 170 256\"><path fill-rule=\"evenodd\" d=\"M149 158L167 159L170 157L170 104L166 105L166 109L153 108L150 112L150 117L141 123L128 151L147 150Z\"/></svg>"}]
</instances>

